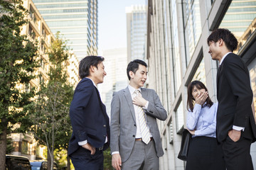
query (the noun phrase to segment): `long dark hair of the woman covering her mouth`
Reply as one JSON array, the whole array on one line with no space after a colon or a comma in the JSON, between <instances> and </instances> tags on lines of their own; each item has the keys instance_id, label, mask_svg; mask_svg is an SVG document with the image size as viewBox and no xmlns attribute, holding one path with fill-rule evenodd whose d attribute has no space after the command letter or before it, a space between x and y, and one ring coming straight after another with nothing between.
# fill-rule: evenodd
<instances>
[{"instance_id":1,"label":"long dark hair of the woman covering her mouth","mask_svg":"<svg viewBox=\"0 0 256 170\"><path fill-rule=\"evenodd\" d=\"M192 92L193 92L194 86L196 86L197 89L205 89L206 91L208 91L206 86L201 81L197 81L197 80L196 81L192 81L188 85L187 109L188 109L188 111L191 111L191 112L193 112L193 106L195 105L195 98L193 98L193 96L192 96ZM206 106L209 106L209 108L211 106L213 106L213 101L210 100L209 96L208 96L208 98L206 98Z\"/></svg>"}]
</instances>

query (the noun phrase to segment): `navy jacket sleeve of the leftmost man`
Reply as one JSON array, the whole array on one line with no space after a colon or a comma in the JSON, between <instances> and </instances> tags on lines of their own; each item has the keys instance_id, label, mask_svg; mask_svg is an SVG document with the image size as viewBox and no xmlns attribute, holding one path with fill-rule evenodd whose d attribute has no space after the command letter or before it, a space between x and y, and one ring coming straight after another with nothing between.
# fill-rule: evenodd
<instances>
[{"instance_id":1,"label":"navy jacket sleeve of the leftmost man","mask_svg":"<svg viewBox=\"0 0 256 170\"><path fill-rule=\"evenodd\" d=\"M87 132L85 131L85 118L88 102L92 95L93 86L86 81L80 81L75 89L73 101L70 105L70 120L75 134L75 138L78 142L87 140Z\"/></svg>"}]
</instances>

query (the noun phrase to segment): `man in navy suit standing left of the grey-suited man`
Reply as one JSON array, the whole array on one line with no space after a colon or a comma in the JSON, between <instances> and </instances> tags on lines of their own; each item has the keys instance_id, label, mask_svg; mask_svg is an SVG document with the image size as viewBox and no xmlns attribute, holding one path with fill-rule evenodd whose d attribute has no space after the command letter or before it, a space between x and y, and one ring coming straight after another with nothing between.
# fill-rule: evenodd
<instances>
[{"instance_id":1,"label":"man in navy suit standing left of the grey-suited man","mask_svg":"<svg viewBox=\"0 0 256 170\"><path fill-rule=\"evenodd\" d=\"M80 61L80 82L70 105L73 134L68 155L76 170L103 169L103 150L110 143L110 120L96 85L106 76L104 58L87 56Z\"/></svg>"}]
</instances>

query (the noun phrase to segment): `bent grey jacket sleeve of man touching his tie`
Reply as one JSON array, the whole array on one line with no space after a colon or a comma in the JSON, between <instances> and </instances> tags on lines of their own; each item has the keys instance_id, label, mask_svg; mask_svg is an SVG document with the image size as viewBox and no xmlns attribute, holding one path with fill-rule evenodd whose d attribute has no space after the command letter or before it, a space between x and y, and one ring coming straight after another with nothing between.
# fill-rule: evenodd
<instances>
[{"instance_id":1,"label":"bent grey jacket sleeve of man touching his tie","mask_svg":"<svg viewBox=\"0 0 256 170\"><path fill-rule=\"evenodd\" d=\"M159 99L159 96L156 94L156 91L152 90L154 103L149 101L149 106L145 110L147 115L151 115L154 118L158 118L159 120L166 120L167 113L164 109L164 106L162 106L161 101Z\"/></svg>"}]
</instances>

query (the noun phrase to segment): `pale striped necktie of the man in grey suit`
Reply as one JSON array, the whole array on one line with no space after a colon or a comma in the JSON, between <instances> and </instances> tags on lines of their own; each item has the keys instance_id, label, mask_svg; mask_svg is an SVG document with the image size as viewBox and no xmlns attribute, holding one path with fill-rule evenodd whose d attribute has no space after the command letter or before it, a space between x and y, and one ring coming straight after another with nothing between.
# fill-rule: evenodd
<instances>
[{"instance_id":1,"label":"pale striped necktie of the man in grey suit","mask_svg":"<svg viewBox=\"0 0 256 170\"><path fill-rule=\"evenodd\" d=\"M135 91L136 94L138 95L140 92L139 90ZM142 134L142 141L147 145L150 142L150 137L149 137L149 128L146 125L146 116L144 113L144 110L141 106L138 106L138 115L139 115L139 127L141 129L141 134Z\"/></svg>"}]
</instances>

